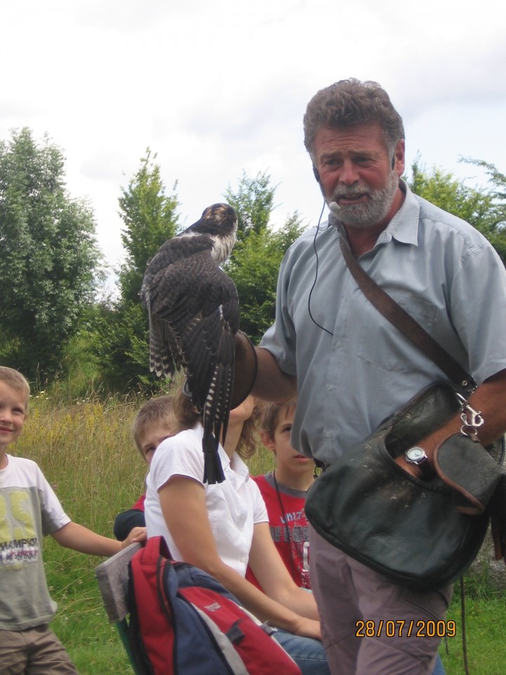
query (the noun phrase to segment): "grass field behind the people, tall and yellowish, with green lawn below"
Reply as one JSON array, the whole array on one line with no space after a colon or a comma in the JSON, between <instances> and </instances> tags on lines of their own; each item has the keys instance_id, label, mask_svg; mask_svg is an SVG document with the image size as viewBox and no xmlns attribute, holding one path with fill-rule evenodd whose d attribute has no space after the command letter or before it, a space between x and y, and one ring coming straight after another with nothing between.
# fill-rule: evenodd
<instances>
[{"instance_id":1,"label":"grass field behind the people, tall and yellowish, with green lawn below","mask_svg":"<svg viewBox=\"0 0 506 675\"><path fill-rule=\"evenodd\" d=\"M130 424L141 401L93 395L68 404L39 394L12 454L36 461L72 520L112 536L112 522L143 491L145 464L130 438ZM267 451L250 461L252 473L271 468ZM131 675L114 626L102 608L94 569L100 558L45 542L44 560L51 595L58 602L53 622L81 675ZM502 675L506 669L506 593L469 579L467 649L472 675ZM441 657L448 675L464 672L460 593L448 618L457 636L448 639ZM372 674L373 675L373 674Z\"/></svg>"}]
</instances>

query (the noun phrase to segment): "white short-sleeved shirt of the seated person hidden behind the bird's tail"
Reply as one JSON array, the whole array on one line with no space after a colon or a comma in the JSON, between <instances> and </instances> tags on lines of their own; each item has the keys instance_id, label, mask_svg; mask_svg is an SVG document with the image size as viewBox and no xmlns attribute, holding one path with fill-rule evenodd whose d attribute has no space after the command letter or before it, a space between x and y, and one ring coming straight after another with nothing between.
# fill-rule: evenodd
<instances>
[{"instance_id":1,"label":"white short-sleeved shirt of the seated person hidden behind the bird's tail","mask_svg":"<svg viewBox=\"0 0 506 675\"><path fill-rule=\"evenodd\" d=\"M158 490L173 476L190 477L205 489L207 517L221 560L244 577L254 525L268 522L264 499L257 484L249 477L249 470L242 459L233 454L229 460L221 445L219 456L225 480L214 485L202 483L202 432L199 424L194 429L165 439L158 446L146 480L144 506L148 536L164 536L174 560L183 560L163 518Z\"/></svg>"}]
</instances>

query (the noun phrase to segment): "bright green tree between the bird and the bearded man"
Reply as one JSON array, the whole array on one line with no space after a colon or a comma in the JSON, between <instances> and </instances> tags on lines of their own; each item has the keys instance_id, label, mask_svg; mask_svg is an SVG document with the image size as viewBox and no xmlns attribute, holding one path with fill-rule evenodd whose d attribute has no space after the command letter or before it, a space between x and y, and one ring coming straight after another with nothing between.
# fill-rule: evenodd
<instances>
[{"instance_id":1,"label":"bright green tree between the bird and the bearded man","mask_svg":"<svg viewBox=\"0 0 506 675\"><path fill-rule=\"evenodd\" d=\"M238 290L241 330L253 342L258 342L274 321L281 260L303 229L297 211L280 229L270 225L275 195L270 181L265 172L255 179L243 173L238 191L234 193L229 186L224 194L238 213L239 231L225 270Z\"/></svg>"}]
</instances>

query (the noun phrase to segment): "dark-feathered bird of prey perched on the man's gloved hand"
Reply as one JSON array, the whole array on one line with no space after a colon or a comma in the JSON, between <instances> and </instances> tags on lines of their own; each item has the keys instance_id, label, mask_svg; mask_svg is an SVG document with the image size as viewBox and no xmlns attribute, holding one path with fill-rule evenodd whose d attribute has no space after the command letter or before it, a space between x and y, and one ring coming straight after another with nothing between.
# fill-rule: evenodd
<instances>
[{"instance_id":1,"label":"dark-feathered bird of prey perched on the man's gloved hand","mask_svg":"<svg viewBox=\"0 0 506 675\"><path fill-rule=\"evenodd\" d=\"M237 226L231 206L208 206L148 262L139 293L149 315L150 370L168 376L183 368L193 405L202 412L209 484L224 480L218 444L231 406L239 300L219 265L231 253Z\"/></svg>"}]
</instances>

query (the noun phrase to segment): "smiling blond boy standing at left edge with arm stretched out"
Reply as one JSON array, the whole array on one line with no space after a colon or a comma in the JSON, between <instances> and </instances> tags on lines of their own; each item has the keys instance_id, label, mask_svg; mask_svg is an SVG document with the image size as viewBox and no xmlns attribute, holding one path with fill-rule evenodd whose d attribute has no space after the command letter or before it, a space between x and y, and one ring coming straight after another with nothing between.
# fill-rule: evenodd
<instances>
[{"instance_id":1,"label":"smiling blond boy standing at left edge with arm stretched out","mask_svg":"<svg viewBox=\"0 0 506 675\"><path fill-rule=\"evenodd\" d=\"M30 386L0 366L0 664L3 673L77 675L48 628L56 612L42 563L42 537L93 555L114 555L145 539L135 529L124 544L72 522L36 463L6 453L21 435Z\"/></svg>"}]
</instances>

